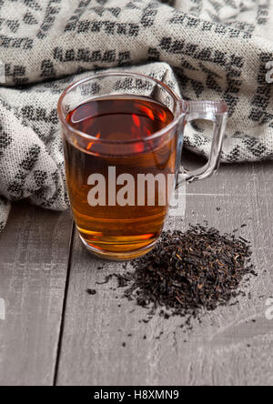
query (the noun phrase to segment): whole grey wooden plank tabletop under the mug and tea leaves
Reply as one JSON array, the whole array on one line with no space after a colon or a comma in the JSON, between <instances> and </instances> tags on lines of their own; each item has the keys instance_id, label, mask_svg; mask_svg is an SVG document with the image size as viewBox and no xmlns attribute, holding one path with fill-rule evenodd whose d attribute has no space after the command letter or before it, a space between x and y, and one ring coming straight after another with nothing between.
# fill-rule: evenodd
<instances>
[{"instance_id":1,"label":"whole grey wooden plank tabletop under the mug and tea leaves","mask_svg":"<svg viewBox=\"0 0 273 404\"><path fill-rule=\"evenodd\" d=\"M272 175L272 162L222 165L187 185L184 221L169 217L171 228L207 220L226 232L246 223L239 232L258 271L247 298L204 314L188 334L177 318L139 323L144 309L111 290L115 280L95 285L124 269L100 268L69 212L16 204L0 236L0 384L273 385Z\"/></svg>"}]
</instances>

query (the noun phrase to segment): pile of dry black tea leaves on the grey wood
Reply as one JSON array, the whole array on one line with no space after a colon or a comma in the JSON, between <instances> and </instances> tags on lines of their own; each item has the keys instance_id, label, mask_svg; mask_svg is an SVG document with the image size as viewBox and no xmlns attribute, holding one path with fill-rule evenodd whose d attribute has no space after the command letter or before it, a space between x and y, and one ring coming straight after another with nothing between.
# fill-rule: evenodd
<instances>
[{"instance_id":1,"label":"pile of dry black tea leaves on the grey wood","mask_svg":"<svg viewBox=\"0 0 273 404\"><path fill-rule=\"evenodd\" d=\"M126 298L149 308L150 318L158 308L165 318L197 317L201 309L214 310L243 293L239 285L247 274L257 276L247 240L199 225L186 233L164 232L132 265L133 272L114 276Z\"/></svg>"}]
</instances>

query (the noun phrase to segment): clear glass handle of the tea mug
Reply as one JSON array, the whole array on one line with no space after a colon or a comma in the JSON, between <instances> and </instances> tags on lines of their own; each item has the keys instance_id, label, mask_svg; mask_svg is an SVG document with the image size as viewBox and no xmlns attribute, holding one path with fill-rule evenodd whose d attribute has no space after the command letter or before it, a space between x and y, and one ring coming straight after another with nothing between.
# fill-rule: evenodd
<instances>
[{"instance_id":1,"label":"clear glass handle of the tea mug","mask_svg":"<svg viewBox=\"0 0 273 404\"><path fill-rule=\"evenodd\" d=\"M227 126L227 104L223 101L182 101L182 108L187 111L186 122L196 119L206 119L212 121L213 136L210 155L207 164L193 171L186 168L180 168L181 179L177 186L186 179L187 182L193 182L197 179L203 179L214 174L220 164L221 150Z\"/></svg>"}]
</instances>

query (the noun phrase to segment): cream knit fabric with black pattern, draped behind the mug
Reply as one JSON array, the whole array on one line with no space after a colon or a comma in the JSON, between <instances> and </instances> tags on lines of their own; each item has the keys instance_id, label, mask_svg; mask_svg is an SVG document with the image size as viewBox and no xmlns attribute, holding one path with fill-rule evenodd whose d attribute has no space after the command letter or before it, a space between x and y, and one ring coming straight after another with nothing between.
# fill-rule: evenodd
<instances>
[{"instance_id":1,"label":"cream knit fabric with black pattern, draped behind the mug","mask_svg":"<svg viewBox=\"0 0 273 404\"><path fill-rule=\"evenodd\" d=\"M222 161L273 158L271 0L0 0L0 231L10 201L68 206L56 116L62 90L100 69L225 100ZM211 130L187 127L208 156Z\"/></svg>"}]
</instances>

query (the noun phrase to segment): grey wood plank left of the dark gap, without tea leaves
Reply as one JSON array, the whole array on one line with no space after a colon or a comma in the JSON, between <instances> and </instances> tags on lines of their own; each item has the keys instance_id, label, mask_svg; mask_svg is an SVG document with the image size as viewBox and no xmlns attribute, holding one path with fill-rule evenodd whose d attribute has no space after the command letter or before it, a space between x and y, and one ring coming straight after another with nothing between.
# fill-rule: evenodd
<instances>
[{"instance_id":1,"label":"grey wood plank left of the dark gap, without tea leaves","mask_svg":"<svg viewBox=\"0 0 273 404\"><path fill-rule=\"evenodd\" d=\"M68 212L20 203L0 235L2 386L53 384L71 228Z\"/></svg>"}]
</instances>

